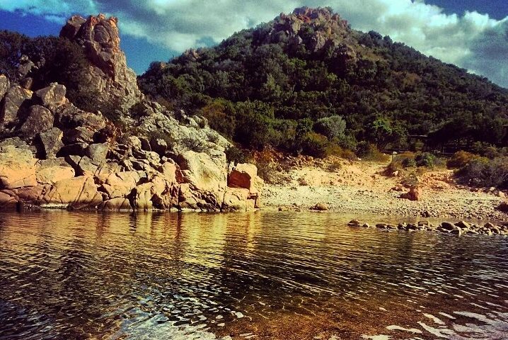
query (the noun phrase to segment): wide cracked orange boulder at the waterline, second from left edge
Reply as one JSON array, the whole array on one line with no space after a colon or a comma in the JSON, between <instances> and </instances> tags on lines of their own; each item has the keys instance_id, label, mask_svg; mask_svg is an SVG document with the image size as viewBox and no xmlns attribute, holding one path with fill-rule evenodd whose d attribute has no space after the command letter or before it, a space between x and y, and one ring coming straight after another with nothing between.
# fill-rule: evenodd
<instances>
[{"instance_id":1,"label":"wide cracked orange boulder at the waterline, second from left edge","mask_svg":"<svg viewBox=\"0 0 508 340\"><path fill-rule=\"evenodd\" d=\"M90 176L57 181L42 198L42 203L47 205L64 205L76 209L96 207L102 201L93 177Z\"/></svg>"}]
</instances>

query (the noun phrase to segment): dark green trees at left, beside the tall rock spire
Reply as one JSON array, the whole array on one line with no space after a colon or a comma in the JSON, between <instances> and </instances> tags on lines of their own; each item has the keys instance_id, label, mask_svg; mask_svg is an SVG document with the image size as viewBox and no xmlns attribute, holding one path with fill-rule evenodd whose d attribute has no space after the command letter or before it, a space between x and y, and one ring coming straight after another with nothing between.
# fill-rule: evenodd
<instances>
[{"instance_id":1,"label":"dark green trees at left, beside the tall rock spire","mask_svg":"<svg viewBox=\"0 0 508 340\"><path fill-rule=\"evenodd\" d=\"M83 47L65 38L28 38L19 33L0 31L0 73L6 74L13 83L23 81L23 74L18 72L23 55L33 63L27 74L33 80L32 89L58 82L67 87L67 97L76 106L92 109L96 94L86 86L80 86L90 67Z\"/></svg>"}]
</instances>

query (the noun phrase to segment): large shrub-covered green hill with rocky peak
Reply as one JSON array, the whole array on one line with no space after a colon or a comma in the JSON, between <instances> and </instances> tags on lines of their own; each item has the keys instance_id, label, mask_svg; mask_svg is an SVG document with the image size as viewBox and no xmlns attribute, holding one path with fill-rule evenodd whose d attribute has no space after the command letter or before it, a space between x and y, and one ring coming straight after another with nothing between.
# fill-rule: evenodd
<instances>
[{"instance_id":1,"label":"large shrub-covered green hill with rocky peak","mask_svg":"<svg viewBox=\"0 0 508 340\"><path fill-rule=\"evenodd\" d=\"M139 86L253 149L323 156L366 142L507 145L507 89L388 36L352 30L330 8L297 8L215 47L154 62Z\"/></svg>"}]
</instances>

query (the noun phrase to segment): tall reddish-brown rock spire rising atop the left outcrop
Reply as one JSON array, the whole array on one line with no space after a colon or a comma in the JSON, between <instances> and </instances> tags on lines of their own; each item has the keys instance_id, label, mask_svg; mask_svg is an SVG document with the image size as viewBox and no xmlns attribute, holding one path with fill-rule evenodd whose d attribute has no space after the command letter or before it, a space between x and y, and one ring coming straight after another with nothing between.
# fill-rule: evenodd
<instances>
[{"instance_id":1,"label":"tall reddish-brown rock spire rising atop the left outcrop","mask_svg":"<svg viewBox=\"0 0 508 340\"><path fill-rule=\"evenodd\" d=\"M96 89L103 101L120 101L129 108L142 98L136 74L127 67L125 53L120 49L117 18L103 14L73 16L62 28L60 36L79 43L86 51L92 66L83 86Z\"/></svg>"}]
</instances>

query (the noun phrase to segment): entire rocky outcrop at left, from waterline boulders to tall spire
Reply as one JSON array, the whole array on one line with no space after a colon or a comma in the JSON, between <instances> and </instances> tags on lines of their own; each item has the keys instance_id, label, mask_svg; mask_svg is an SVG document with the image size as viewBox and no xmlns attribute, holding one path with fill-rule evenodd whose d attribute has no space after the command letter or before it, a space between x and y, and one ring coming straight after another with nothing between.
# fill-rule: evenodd
<instances>
[{"instance_id":1,"label":"entire rocky outcrop at left, from waterline boulders to tall spire","mask_svg":"<svg viewBox=\"0 0 508 340\"><path fill-rule=\"evenodd\" d=\"M64 84L31 89L33 81L11 84L0 75L0 208L259 207L256 167L229 164L230 143L205 118L142 96L120 50L116 18L74 16L61 36L78 42L91 63L80 86L99 89L103 102L121 98L129 109L113 121L76 107ZM30 77L34 63L20 64Z\"/></svg>"}]
</instances>

